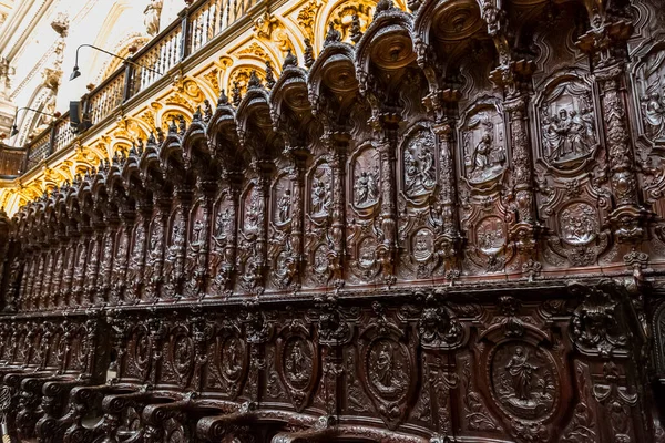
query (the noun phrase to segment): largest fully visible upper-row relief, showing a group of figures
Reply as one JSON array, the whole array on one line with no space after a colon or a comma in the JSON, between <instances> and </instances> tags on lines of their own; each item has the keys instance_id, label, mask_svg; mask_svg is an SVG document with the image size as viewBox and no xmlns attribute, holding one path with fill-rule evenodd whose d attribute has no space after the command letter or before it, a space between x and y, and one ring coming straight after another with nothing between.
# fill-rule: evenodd
<instances>
[{"instance_id":1,"label":"largest fully visible upper-row relief, showing a group of figures","mask_svg":"<svg viewBox=\"0 0 665 443\"><path fill-rule=\"evenodd\" d=\"M597 144L590 86L582 81L559 83L540 105L543 158L570 169L593 154Z\"/></svg>"}]
</instances>

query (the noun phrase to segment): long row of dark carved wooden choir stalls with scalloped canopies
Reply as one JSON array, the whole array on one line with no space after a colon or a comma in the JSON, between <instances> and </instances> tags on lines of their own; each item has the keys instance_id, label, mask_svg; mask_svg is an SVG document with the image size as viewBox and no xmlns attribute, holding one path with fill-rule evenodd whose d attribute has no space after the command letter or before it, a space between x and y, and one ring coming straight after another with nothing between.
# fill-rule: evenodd
<instances>
[{"instance_id":1,"label":"long row of dark carved wooden choir stalls with scalloped canopies","mask_svg":"<svg viewBox=\"0 0 665 443\"><path fill-rule=\"evenodd\" d=\"M0 217L39 442L664 442L657 0L381 0Z\"/></svg>"}]
</instances>

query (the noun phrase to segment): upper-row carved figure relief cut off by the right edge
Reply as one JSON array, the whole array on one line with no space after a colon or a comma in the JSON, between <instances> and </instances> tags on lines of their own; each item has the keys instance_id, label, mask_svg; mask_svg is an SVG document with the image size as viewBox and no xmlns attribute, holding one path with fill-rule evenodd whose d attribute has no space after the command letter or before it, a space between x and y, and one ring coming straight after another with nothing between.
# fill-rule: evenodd
<instances>
[{"instance_id":1,"label":"upper-row carved figure relief cut off by the right edge","mask_svg":"<svg viewBox=\"0 0 665 443\"><path fill-rule=\"evenodd\" d=\"M665 142L665 51L646 56L637 70L640 110L645 135Z\"/></svg>"}]
</instances>

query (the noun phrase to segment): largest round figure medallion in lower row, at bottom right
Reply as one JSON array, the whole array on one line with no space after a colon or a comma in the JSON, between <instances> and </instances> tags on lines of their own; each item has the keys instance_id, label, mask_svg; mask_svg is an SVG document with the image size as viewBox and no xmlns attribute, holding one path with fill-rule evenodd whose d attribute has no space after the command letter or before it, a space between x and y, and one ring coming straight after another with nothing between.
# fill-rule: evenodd
<instances>
[{"instance_id":1,"label":"largest round figure medallion in lower row, at bottom right","mask_svg":"<svg viewBox=\"0 0 665 443\"><path fill-rule=\"evenodd\" d=\"M545 350L528 343L503 344L492 358L491 374L492 396L505 414L541 420L553 412L559 380Z\"/></svg>"}]
</instances>

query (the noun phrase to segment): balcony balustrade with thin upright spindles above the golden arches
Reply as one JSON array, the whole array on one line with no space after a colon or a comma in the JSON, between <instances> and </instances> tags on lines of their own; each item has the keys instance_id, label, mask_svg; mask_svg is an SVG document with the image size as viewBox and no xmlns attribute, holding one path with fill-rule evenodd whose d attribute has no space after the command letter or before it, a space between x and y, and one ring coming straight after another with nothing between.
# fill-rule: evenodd
<instances>
[{"instance_id":1,"label":"balcony balustrade with thin upright spindles above the golden arches","mask_svg":"<svg viewBox=\"0 0 665 443\"><path fill-rule=\"evenodd\" d=\"M204 48L242 19L259 0L200 0L185 8L178 19L132 55L131 63L106 78L81 99L83 120L96 125L112 115L115 109ZM75 137L65 113L23 150L24 173L49 155L69 146Z\"/></svg>"}]
</instances>

